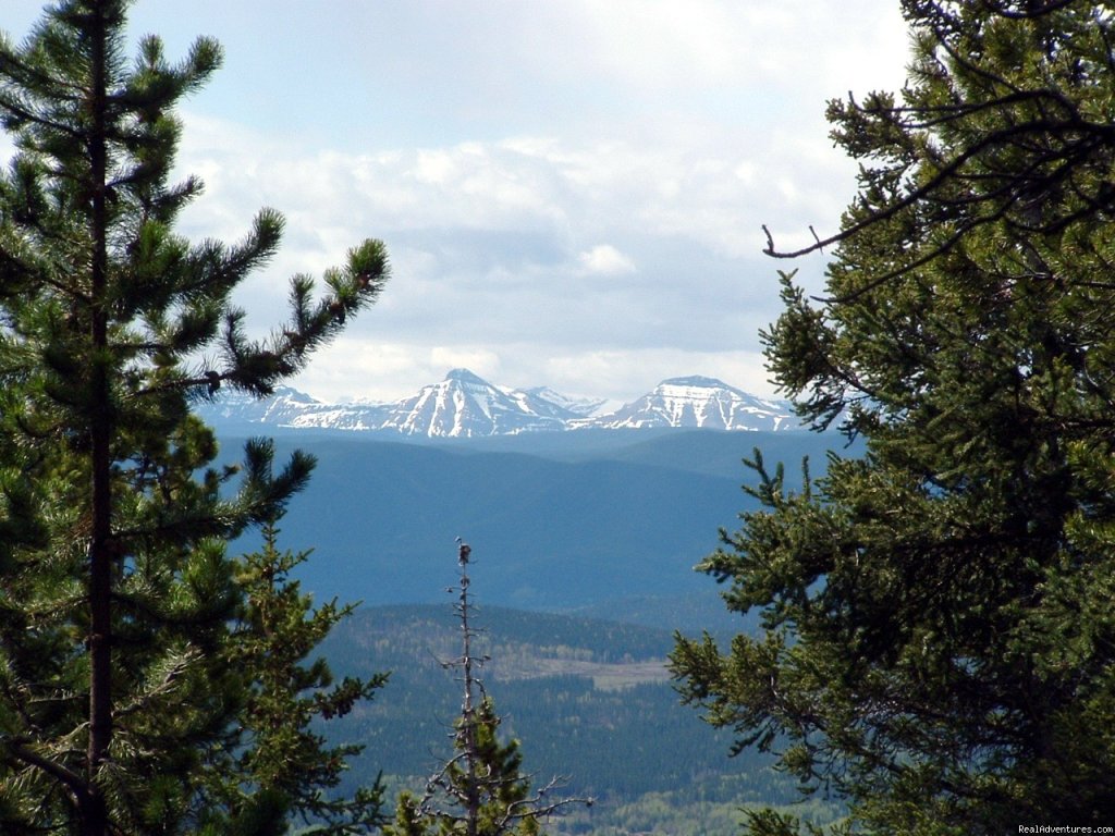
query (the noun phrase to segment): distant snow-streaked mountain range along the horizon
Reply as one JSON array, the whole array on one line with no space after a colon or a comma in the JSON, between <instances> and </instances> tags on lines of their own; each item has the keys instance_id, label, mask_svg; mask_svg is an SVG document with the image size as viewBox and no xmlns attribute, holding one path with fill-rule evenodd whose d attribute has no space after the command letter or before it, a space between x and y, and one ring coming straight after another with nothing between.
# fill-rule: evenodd
<instances>
[{"instance_id":1,"label":"distant snow-streaked mountain range along the horizon","mask_svg":"<svg viewBox=\"0 0 1115 836\"><path fill-rule=\"evenodd\" d=\"M290 388L270 398L229 393L198 410L217 428L316 428L429 438L476 438L583 429L799 429L789 405L706 377L663 380L641 398L609 410L609 401L566 398L546 387L496 386L467 369L394 402L328 404Z\"/></svg>"}]
</instances>

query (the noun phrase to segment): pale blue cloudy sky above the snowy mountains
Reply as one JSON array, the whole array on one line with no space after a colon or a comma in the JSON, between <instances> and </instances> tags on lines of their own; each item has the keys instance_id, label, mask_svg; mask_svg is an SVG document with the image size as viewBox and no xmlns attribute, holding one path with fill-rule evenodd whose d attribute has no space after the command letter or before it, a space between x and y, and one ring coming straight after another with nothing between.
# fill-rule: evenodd
<instances>
[{"instance_id":1,"label":"pale blue cloudy sky above the snowy mountains","mask_svg":"<svg viewBox=\"0 0 1115 836\"><path fill-rule=\"evenodd\" d=\"M41 6L3 0L0 29L21 40ZM172 59L224 47L181 108L177 171L206 189L178 232L285 215L236 295L258 336L290 276L386 242L379 301L292 381L332 401L459 367L620 401L688 375L776 395L777 271L820 290L825 259L765 256L762 225L783 247L836 230L855 164L825 104L900 88L909 43L898 0L138 0L130 28Z\"/></svg>"}]
</instances>

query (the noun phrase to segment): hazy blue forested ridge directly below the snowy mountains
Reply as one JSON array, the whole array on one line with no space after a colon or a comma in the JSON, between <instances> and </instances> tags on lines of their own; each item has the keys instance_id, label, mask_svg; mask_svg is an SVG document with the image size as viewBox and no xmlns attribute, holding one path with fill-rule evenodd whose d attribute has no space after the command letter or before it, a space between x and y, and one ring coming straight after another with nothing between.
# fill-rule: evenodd
<instances>
[{"instance_id":1,"label":"hazy blue forested ridge directly below the snowy mountains","mask_svg":"<svg viewBox=\"0 0 1115 836\"><path fill-rule=\"evenodd\" d=\"M560 460L531 455L525 444L503 451L467 440L279 436L280 461L295 446L318 459L308 489L280 524L281 545L314 550L300 576L327 599L438 601L455 582L454 538L462 536L473 546L486 603L564 610L695 593L719 605L720 589L692 566L717 547L721 527L736 528L738 513L754 507L739 487L754 475L740 459L754 445L767 447L768 465L785 460L793 487L803 456L821 475L825 447L841 440L699 430L644 441L636 440L638 432L615 435L631 441L592 448L584 458L566 446ZM580 434L560 437L575 441ZM224 443L226 450L242 444ZM258 545L249 535L236 548Z\"/></svg>"}]
</instances>

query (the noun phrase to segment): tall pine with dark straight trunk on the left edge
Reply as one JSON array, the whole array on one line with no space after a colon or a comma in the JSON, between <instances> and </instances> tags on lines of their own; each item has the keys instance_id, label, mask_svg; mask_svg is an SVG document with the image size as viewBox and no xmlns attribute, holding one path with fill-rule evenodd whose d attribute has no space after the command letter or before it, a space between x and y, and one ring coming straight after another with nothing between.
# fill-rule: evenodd
<instances>
[{"instance_id":1,"label":"tall pine with dark straight trunk on the left edge","mask_svg":"<svg viewBox=\"0 0 1115 836\"><path fill-rule=\"evenodd\" d=\"M369 304L387 275L367 241L291 319L245 333L230 295L266 263L282 217L235 245L173 232L201 193L169 183L175 104L221 61L181 64L145 38L130 65L125 0L62 0L0 40L0 829L178 833L201 815L213 751L235 739L241 672L223 648L241 591L225 543L307 480L252 443L216 468L190 411L222 387L264 395ZM234 829L277 827L260 797ZM268 824L270 823L270 824Z\"/></svg>"}]
</instances>

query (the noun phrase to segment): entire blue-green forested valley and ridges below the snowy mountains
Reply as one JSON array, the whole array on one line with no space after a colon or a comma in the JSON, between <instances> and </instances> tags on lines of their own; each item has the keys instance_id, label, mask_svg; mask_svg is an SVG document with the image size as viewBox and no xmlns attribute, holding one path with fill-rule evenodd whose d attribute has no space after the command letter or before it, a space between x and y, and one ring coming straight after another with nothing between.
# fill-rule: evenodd
<instances>
[{"instance_id":1,"label":"entire blue-green forested valley and ridges below the snowy mountains","mask_svg":"<svg viewBox=\"0 0 1115 836\"><path fill-rule=\"evenodd\" d=\"M769 757L736 757L730 735L679 704L666 668L673 631L728 642L756 629L729 613L720 587L694 572L754 507L740 485L754 448L823 469L844 439L808 432L582 430L384 440L380 435L279 428L279 460L318 460L280 522L280 546L313 550L298 580L319 601L362 605L322 651L338 675L390 671L374 703L330 729L367 747L349 777L384 771L392 791L420 789L446 757L459 710L453 615L457 536L491 657L483 678L539 781L599 799L552 833L738 832L740 805L789 805L832 820L838 806L801 801ZM243 439L222 436L222 458ZM799 479L798 479L799 480ZM243 539L244 548L256 544Z\"/></svg>"}]
</instances>

